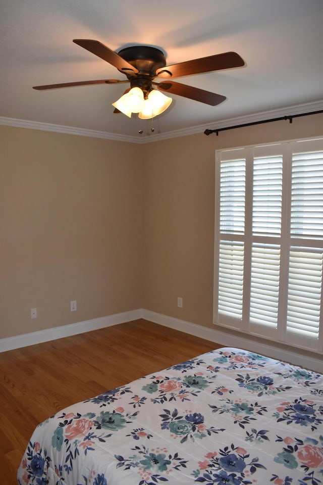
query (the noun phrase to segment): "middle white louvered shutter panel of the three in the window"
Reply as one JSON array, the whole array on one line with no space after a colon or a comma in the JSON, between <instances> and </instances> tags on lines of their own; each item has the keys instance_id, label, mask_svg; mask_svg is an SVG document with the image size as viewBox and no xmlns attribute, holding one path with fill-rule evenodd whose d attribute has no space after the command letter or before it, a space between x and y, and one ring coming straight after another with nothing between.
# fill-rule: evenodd
<instances>
[{"instance_id":1,"label":"middle white louvered shutter panel of the three in the window","mask_svg":"<svg viewBox=\"0 0 323 485\"><path fill-rule=\"evenodd\" d=\"M283 157L255 157L253 161L250 323L277 329L280 246L268 236L281 236ZM278 239L279 243L280 239ZM262 330L262 331L265 331ZM269 331L271 333L271 331Z\"/></svg>"}]
</instances>

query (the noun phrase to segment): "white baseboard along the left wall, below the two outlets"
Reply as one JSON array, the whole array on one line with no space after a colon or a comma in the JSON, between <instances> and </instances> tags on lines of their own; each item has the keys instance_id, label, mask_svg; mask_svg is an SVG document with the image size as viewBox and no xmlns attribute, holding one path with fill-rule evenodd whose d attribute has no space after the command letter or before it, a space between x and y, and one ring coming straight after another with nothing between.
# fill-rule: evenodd
<instances>
[{"instance_id":1,"label":"white baseboard along the left wall, below the two outlets","mask_svg":"<svg viewBox=\"0 0 323 485\"><path fill-rule=\"evenodd\" d=\"M90 332L98 328L110 327L119 323L130 322L142 318L142 310L132 310L130 312L116 313L106 317L94 318L83 322L71 323L60 327L48 328L38 332L25 333L14 337L2 338L0 340L0 352L19 349L29 345L41 344L57 338L69 337L78 333Z\"/></svg>"}]
</instances>

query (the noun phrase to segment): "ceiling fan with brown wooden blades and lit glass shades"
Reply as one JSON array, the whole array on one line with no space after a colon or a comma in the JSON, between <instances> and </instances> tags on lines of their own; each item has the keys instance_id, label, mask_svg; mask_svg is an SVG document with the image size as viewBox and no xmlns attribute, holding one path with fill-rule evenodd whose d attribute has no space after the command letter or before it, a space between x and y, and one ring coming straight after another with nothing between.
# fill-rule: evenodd
<instances>
[{"instance_id":1,"label":"ceiling fan with brown wooden blades and lit glass shades","mask_svg":"<svg viewBox=\"0 0 323 485\"><path fill-rule=\"evenodd\" d=\"M116 53L97 40L74 39L73 42L103 59L103 61L112 64L120 72L125 74L127 79L64 82L60 84L33 86L33 89L44 90L89 84L130 82L130 88L124 92L123 96L116 103L113 103L113 106L115 106L114 112L119 113L121 111L129 117L131 117L131 113L139 113L139 117L142 119L152 118L163 113L172 101L168 96L161 96L163 100L159 100L161 93L156 91L152 87L153 85L157 86L160 91L178 94L184 98L189 98L210 106L216 106L225 101L226 96L175 82L173 78L244 66L243 59L235 52L216 54L167 66L163 52L156 47L135 45L126 47L119 51L119 53ZM155 78L159 82L155 82ZM140 98L140 102L138 101L138 97ZM152 105L150 106L150 102L153 103L154 101L153 98L156 98L157 104L159 103L158 107L153 108ZM164 98L170 101L165 101Z\"/></svg>"}]
</instances>

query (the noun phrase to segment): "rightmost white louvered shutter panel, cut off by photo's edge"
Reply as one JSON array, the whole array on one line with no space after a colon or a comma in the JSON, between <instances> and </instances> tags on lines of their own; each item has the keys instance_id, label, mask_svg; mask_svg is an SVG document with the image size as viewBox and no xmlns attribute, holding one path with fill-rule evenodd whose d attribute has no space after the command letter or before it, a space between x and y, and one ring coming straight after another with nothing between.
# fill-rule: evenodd
<instances>
[{"instance_id":1,"label":"rightmost white louvered shutter panel, cut off by photo's edge","mask_svg":"<svg viewBox=\"0 0 323 485\"><path fill-rule=\"evenodd\" d=\"M323 151L293 153L291 172L287 334L310 347L322 321Z\"/></svg>"}]
</instances>

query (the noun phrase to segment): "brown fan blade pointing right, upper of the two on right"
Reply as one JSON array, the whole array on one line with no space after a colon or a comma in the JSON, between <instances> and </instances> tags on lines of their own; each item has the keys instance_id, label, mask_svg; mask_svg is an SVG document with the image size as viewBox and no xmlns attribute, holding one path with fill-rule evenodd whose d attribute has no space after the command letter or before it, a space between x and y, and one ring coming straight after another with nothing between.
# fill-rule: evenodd
<instances>
[{"instance_id":1,"label":"brown fan blade pointing right, upper of the two on right","mask_svg":"<svg viewBox=\"0 0 323 485\"><path fill-rule=\"evenodd\" d=\"M193 61L180 62L157 69L158 77L170 78L189 76L202 72L220 71L244 66L244 60L236 52L225 52L214 56L201 57Z\"/></svg>"}]
</instances>

